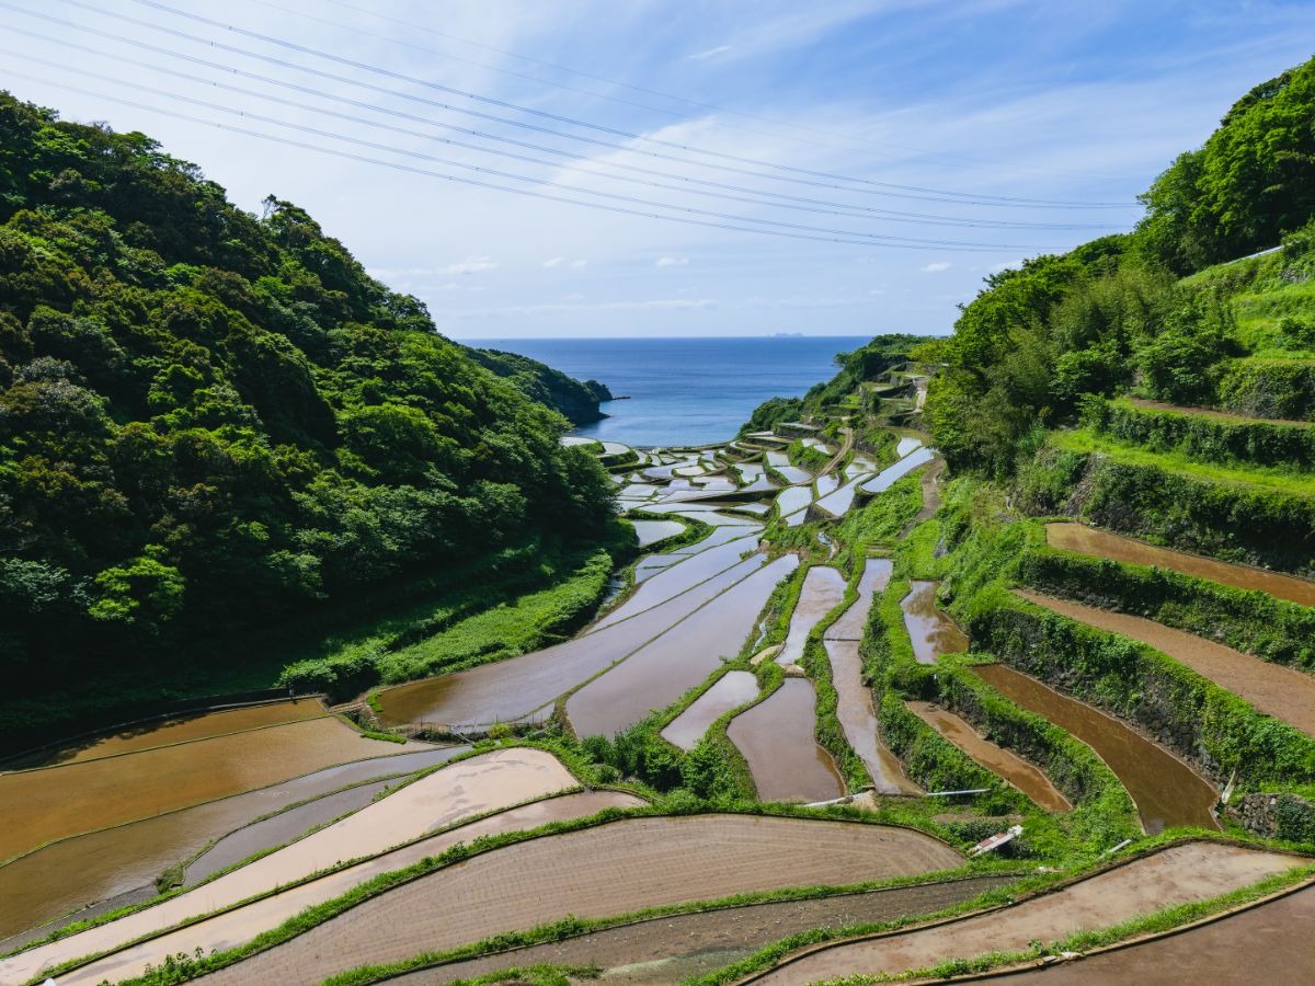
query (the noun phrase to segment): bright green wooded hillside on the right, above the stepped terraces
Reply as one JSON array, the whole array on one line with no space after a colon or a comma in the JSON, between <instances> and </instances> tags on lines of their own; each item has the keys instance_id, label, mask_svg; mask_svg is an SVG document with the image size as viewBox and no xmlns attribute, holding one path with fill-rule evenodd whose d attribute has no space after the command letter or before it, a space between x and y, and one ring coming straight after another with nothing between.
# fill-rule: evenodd
<instances>
[{"instance_id":1,"label":"bright green wooded hillside on the right, above the stepped terraces","mask_svg":"<svg viewBox=\"0 0 1315 986\"><path fill-rule=\"evenodd\" d=\"M1132 233L988 277L953 337L918 354L943 367L927 418L952 465L1013 473L1052 429L1099 430L1130 393L1315 421L1315 59L1243 96L1141 200ZM1211 439L1218 459L1235 439Z\"/></svg>"}]
</instances>

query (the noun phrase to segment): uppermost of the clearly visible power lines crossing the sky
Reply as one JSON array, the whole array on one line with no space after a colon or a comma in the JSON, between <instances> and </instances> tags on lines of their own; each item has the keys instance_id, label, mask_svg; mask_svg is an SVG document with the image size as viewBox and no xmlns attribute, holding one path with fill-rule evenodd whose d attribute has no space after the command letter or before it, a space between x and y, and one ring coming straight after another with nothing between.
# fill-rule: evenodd
<instances>
[{"instance_id":1,"label":"uppermost of the clearly visible power lines crossing the sky","mask_svg":"<svg viewBox=\"0 0 1315 986\"><path fill-rule=\"evenodd\" d=\"M70 3L74 7L80 7L83 9L93 11L93 12L100 13L103 16L110 16L110 17L126 20L129 22L138 24L141 26L154 28L156 30L167 30L167 29L159 28L159 25L154 25L154 24L150 24L150 22L146 22L146 21L139 21L139 20L135 20L135 18L130 18L130 17L126 17L125 14L103 11L100 8L92 7L91 4L82 3L82 0L66 0L66 3ZM1018 196L977 195L977 193L968 193L968 192L955 192L955 191L947 191L947 189L924 188L924 187L919 187L919 185L901 185L901 184L894 184L894 183L890 183L890 181L876 181L873 179L853 177L853 176L847 176L847 175L836 175L836 174L831 174L831 172L826 172L826 171L815 171L815 170L810 170L810 168L797 168L797 167L792 167L792 166L788 166L788 164L777 164L775 162L764 162L764 160L756 160L753 158L743 158L743 156L734 155L734 154L725 154L722 151L711 151L711 150L706 150L706 149L700 149L700 147L696 147L696 146L692 146L692 145L682 145L682 143L676 143L673 141L663 141L663 139L659 139L659 138L655 138L655 137L646 137L643 134L631 133L629 130L622 130L619 128L605 126L605 125L601 125L601 124L590 124L588 121L576 120L573 117L567 117L567 116L563 116L563 114L559 114L559 113L550 113L547 110L534 109L531 106L522 106L522 105L518 105L515 103L510 103L508 100L500 100L500 99L494 99L494 97L490 97L490 96L483 96L483 95L479 95L479 93L475 93L475 92L468 92L466 89L459 89L459 88L455 88L455 87L451 87L451 85L443 85L441 83L435 83L435 82L431 82L431 80L427 80L427 79L419 79L417 76L410 76L410 75L406 75L404 72L394 72L394 71L392 71L389 68L381 68L379 66L372 66L372 64L366 63L366 62L358 62L355 59L346 58L343 55L337 55L337 54L333 54L333 53L329 53L329 51L320 51L318 49L313 49L313 47L309 47L306 45L299 45L296 42L285 41L283 38L276 38L276 37L272 37L272 35L268 35L268 34L262 34L260 32L249 30L246 28L239 28L239 26L231 25L231 24L224 24L222 21L217 21L217 20L213 20L210 17L204 17L201 14L192 13L189 11L178 11L178 9L175 9L175 8L170 7L170 5L167 5L167 4L158 3L158 0L133 0L133 3L139 4L142 7L149 7L149 8L155 9L155 11L160 11L163 13L174 14L175 17L181 17L181 18L185 18L185 20L191 20L191 21L195 21L197 24L204 24L204 25L210 26L210 28L218 28L221 30L227 30L227 32L231 32L231 33L235 33L235 34L241 34L243 37L255 38L255 39L263 41L263 42L266 42L268 45L275 45L277 47L284 47L284 49L288 49L291 51L299 51L301 54L312 55L314 58L322 58L322 59L326 59L326 60L335 62L338 64L345 64L345 66L350 66L352 68L359 68L362 71L373 72L373 74L377 74L377 75L385 75L385 76L389 76L389 78L398 79L401 82L412 83L414 85L422 85L422 87L431 88L431 89L435 89L435 91L439 91L439 92L446 92L448 95L460 96L463 99L473 100L476 103L484 103L484 104L494 105L494 106L498 106L498 108L502 108L502 109L510 109L510 110L515 110L518 113L526 113L526 114L530 114L530 116L537 116L537 117L540 117L540 118L552 120L552 121L559 122L559 124L567 124L567 125L571 125L571 126L580 126L580 128L584 128L584 129L588 129L588 130L596 130L596 131L600 131L600 133L611 134L613 137L621 137L621 138L629 139L629 141L644 141L644 142L648 142L648 143L656 143L659 146L672 147L672 149L680 150L680 151L686 151L686 153L693 153L693 154L702 154L702 155L707 155L707 156L718 158L718 159L723 159L723 160L734 160L734 162L738 162L740 164L752 164L755 167L768 167L768 168L773 168L773 170L781 171L781 172L797 174L797 175L807 175L810 177L822 177L822 179L828 179L828 180L832 180L832 181L846 181L846 183L849 183L849 184L859 184L859 185L864 185L864 187L874 187L874 188L884 188L884 189L897 189L897 191L902 191L902 192L918 192L918 193L923 193L923 195L940 195L940 196L947 196L947 197L952 197L952 199L963 200L963 201L974 200L976 202L982 204L982 205L1010 204L1010 205L1059 206L1059 208L1127 208L1126 202L1072 202L1072 201L1056 201L1056 200L1044 200L1044 199L1024 199L1024 197L1018 197ZM851 191L859 191L859 189L851 189Z\"/></svg>"}]
</instances>

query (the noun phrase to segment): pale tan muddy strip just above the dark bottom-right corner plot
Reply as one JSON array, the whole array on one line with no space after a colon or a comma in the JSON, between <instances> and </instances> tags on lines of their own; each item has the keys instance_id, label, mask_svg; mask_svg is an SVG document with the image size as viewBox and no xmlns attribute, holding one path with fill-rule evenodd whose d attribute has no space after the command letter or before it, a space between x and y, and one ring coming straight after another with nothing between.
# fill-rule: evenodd
<instances>
[{"instance_id":1,"label":"pale tan muddy strip just above the dark bottom-right corner plot","mask_svg":"<svg viewBox=\"0 0 1315 986\"><path fill-rule=\"evenodd\" d=\"M1174 845L1005 910L805 952L750 981L801 983L855 973L894 974L947 958L1024 951L1034 939L1055 941L1082 928L1218 897L1301 862L1223 843Z\"/></svg>"}]
</instances>

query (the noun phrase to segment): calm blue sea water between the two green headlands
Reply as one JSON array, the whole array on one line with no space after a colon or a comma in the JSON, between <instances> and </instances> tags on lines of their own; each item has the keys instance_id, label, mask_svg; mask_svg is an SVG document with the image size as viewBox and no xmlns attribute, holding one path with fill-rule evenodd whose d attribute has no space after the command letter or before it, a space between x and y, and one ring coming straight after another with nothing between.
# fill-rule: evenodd
<instances>
[{"instance_id":1,"label":"calm blue sea water between the two green headlands","mask_svg":"<svg viewBox=\"0 0 1315 986\"><path fill-rule=\"evenodd\" d=\"M867 342L853 335L700 339L479 339L618 397L610 415L576 434L634 446L710 444L735 436L768 397L801 397L835 373L834 358Z\"/></svg>"}]
</instances>

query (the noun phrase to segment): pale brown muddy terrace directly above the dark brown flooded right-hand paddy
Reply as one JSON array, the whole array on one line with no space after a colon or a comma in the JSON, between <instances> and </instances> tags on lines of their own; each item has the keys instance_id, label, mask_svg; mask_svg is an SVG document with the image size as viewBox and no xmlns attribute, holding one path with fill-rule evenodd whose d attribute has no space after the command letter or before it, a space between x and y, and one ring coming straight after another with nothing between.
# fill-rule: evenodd
<instances>
[{"instance_id":1,"label":"pale brown muddy terrace directly above the dark brown flooded right-hand paddy","mask_svg":"<svg viewBox=\"0 0 1315 986\"><path fill-rule=\"evenodd\" d=\"M1251 702L1256 709L1315 736L1315 678L1281 664L1270 664L1214 640L1173 630L1141 617L1111 613L1052 596L1015 590L1038 606L1081 623L1131 636L1186 664L1205 678Z\"/></svg>"}]
</instances>

